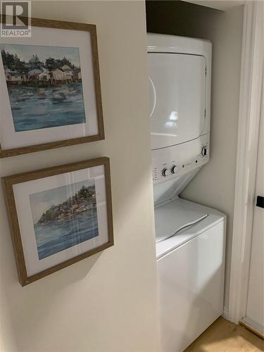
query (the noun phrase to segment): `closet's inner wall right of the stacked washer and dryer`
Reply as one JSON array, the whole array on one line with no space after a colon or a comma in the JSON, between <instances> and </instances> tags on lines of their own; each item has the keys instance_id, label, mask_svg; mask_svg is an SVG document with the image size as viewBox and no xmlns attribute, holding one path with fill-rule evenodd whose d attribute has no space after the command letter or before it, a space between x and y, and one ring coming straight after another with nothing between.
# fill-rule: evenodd
<instances>
[{"instance_id":1,"label":"closet's inner wall right of the stacked washer and dryer","mask_svg":"<svg viewBox=\"0 0 264 352\"><path fill-rule=\"evenodd\" d=\"M237 158L237 124L243 6L200 18L203 37L213 42L210 162L182 192L182 197L227 214L225 306L228 308Z\"/></svg>"}]
</instances>

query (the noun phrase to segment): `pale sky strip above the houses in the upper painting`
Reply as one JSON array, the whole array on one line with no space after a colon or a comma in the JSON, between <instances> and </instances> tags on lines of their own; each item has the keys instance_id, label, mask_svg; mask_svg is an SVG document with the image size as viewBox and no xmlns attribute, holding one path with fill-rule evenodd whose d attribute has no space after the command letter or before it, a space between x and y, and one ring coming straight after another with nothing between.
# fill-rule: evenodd
<instances>
[{"instance_id":1,"label":"pale sky strip above the houses in the upper painting","mask_svg":"<svg viewBox=\"0 0 264 352\"><path fill-rule=\"evenodd\" d=\"M9 54L17 54L20 61L28 62L31 56L37 54L40 61L45 63L46 58L62 59L64 56L80 68L79 48L67 46L47 46L47 45L23 45L23 44L0 44L1 50L8 51Z\"/></svg>"}]
</instances>

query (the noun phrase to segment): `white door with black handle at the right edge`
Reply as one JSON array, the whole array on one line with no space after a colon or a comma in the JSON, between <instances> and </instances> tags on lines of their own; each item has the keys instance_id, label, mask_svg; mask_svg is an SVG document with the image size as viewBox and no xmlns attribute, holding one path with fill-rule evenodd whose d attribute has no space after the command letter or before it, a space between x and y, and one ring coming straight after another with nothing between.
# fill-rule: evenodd
<instances>
[{"instance_id":1,"label":"white door with black handle at the right edge","mask_svg":"<svg viewBox=\"0 0 264 352\"><path fill-rule=\"evenodd\" d=\"M258 144L258 166L256 176L256 196L264 196L264 125L263 108L260 115L260 137ZM255 206L251 243L251 263L249 270L249 291L244 321L260 334L264 326L264 208Z\"/></svg>"}]
</instances>

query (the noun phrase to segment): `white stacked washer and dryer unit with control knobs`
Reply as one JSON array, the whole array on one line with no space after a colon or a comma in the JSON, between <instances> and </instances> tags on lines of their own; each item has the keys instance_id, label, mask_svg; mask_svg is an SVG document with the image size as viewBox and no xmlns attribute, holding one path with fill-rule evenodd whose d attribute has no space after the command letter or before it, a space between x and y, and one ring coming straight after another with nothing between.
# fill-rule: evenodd
<instances>
[{"instance_id":1,"label":"white stacked washer and dryer unit with control knobs","mask_svg":"<svg viewBox=\"0 0 264 352\"><path fill-rule=\"evenodd\" d=\"M163 352L222 314L226 217L179 197L210 154L211 44L148 34L151 154Z\"/></svg>"}]
</instances>

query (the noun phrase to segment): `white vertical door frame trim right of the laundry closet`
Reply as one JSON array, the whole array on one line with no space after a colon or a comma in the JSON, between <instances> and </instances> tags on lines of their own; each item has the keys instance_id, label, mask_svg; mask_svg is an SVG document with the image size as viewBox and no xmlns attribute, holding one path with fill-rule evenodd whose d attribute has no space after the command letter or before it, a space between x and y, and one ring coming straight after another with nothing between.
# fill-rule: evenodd
<instances>
[{"instance_id":1,"label":"white vertical door frame trim right of the laundry closet","mask_svg":"<svg viewBox=\"0 0 264 352\"><path fill-rule=\"evenodd\" d=\"M228 317L238 323L246 315L260 105L263 85L264 2L246 1L241 53L237 166Z\"/></svg>"}]
</instances>

